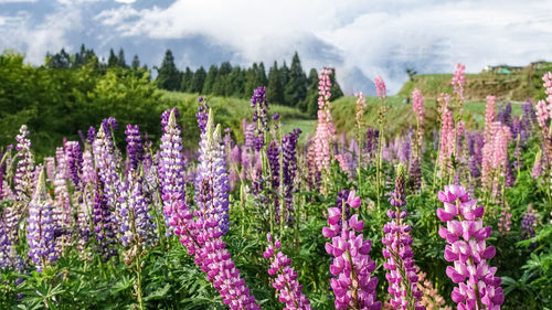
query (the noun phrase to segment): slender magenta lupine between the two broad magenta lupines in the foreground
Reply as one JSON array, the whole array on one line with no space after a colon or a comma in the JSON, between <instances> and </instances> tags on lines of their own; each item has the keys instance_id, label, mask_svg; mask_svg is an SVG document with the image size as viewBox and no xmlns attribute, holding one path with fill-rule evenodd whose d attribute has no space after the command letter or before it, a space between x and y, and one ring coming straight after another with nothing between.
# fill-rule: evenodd
<instances>
[{"instance_id":1,"label":"slender magenta lupine between the two broad magenta lupines in the foreground","mask_svg":"<svg viewBox=\"0 0 552 310\"><path fill-rule=\"evenodd\" d=\"M388 211L390 222L383 226L385 236L382 243L383 257L386 261L383 267L389 270L385 278L389 281L388 291L391 295L391 306L395 309L416 309L423 310L424 306L420 303L422 292L418 290L416 282L416 269L413 258L410 235L411 226L404 224L404 218L408 214L406 210L401 210L406 205L405 194L405 171L402 164L399 165L395 190L391 194L391 205L393 209Z\"/></svg>"}]
</instances>

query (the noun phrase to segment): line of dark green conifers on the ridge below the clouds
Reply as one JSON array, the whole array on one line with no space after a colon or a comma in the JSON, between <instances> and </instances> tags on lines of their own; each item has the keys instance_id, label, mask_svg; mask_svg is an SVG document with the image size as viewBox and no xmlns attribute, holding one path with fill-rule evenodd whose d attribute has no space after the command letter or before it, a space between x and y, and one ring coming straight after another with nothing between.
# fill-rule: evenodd
<instances>
[{"instance_id":1,"label":"line of dark green conifers on the ridge below the clouds","mask_svg":"<svg viewBox=\"0 0 552 310\"><path fill-rule=\"evenodd\" d=\"M92 64L91 64L92 63ZM130 64L126 63L125 51L120 49L115 53L109 50L107 60L99 60L94 50L86 49L83 44L75 54L70 54L62 49L59 53L46 54L45 65L51 68L75 68L92 65L97 72L106 72L107 68L118 67L139 72L149 72L147 65L141 65L138 55L134 55ZM253 63L250 67L232 65L223 62L220 65L211 65L209 70L200 66L195 70L187 66L179 70L171 50L167 50L157 71L156 84L161 89L198 93L203 95L215 95L225 97L248 98L253 89L266 86L267 99L270 104L297 107L316 116L318 110L318 72L311 68L307 75L301 67L299 55L296 52L288 67L284 61L278 65L277 61L268 68L268 74L263 62ZM331 99L343 96L335 73L330 76L332 82Z\"/></svg>"}]
</instances>

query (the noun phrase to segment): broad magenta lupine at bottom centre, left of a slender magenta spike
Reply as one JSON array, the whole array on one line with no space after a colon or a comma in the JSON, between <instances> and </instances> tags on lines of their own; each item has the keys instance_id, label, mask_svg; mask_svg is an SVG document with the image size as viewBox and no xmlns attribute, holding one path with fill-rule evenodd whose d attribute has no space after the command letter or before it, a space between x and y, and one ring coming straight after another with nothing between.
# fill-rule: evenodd
<instances>
[{"instance_id":1,"label":"broad magenta lupine at bottom centre, left of a slender magenta spike","mask_svg":"<svg viewBox=\"0 0 552 310\"><path fill-rule=\"evenodd\" d=\"M358 209L360 197L351 191L348 203ZM326 243L326 252L333 256L330 272L335 277L330 280L336 296L336 309L371 309L380 310L382 303L376 301L375 287L378 278L371 277L375 270L375 263L370 258L372 242L363 238L364 222L354 214L347 221L344 205L328 209L328 224L322 228L322 235L331 238Z\"/></svg>"}]
</instances>

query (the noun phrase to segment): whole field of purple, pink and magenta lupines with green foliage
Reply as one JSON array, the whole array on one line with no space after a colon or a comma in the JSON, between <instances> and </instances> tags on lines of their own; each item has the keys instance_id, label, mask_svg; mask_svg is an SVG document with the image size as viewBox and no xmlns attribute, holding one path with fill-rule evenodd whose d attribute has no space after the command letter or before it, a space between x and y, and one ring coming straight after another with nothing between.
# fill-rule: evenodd
<instances>
[{"instance_id":1,"label":"whole field of purple, pink and magenta lupines with green foliage","mask_svg":"<svg viewBox=\"0 0 552 310\"><path fill-rule=\"evenodd\" d=\"M170 93L160 138L104 116L38 156L18 124L0 309L552 309L552 73L512 107L464 71L431 108L379 77L336 109L323 68L315 125L263 86L233 129L199 96L197 137Z\"/></svg>"}]
</instances>

